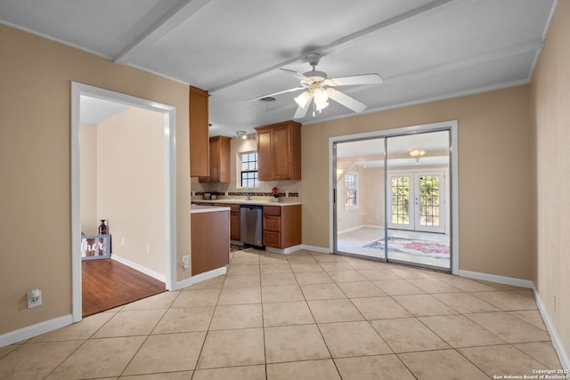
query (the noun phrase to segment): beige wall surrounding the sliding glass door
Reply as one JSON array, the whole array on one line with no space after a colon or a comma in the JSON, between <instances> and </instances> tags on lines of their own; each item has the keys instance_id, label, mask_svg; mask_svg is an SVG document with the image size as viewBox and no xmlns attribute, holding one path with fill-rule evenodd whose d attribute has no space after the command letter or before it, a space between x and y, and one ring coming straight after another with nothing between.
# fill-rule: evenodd
<instances>
[{"instance_id":1,"label":"beige wall surrounding the sliding glass door","mask_svg":"<svg viewBox=\"0 0 570 380\"><path fill-rule=\"evenodd\" d=\"M531 279L528 102L524 85L303 126L303 243L329 248L331 136L458 120L460 270Z\"/></svg>"}]
</instances>

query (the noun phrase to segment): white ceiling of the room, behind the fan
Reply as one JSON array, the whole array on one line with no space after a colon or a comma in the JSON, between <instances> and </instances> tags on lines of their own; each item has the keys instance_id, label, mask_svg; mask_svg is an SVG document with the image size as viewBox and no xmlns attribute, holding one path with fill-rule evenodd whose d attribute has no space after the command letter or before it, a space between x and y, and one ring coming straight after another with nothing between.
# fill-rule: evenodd
<instances>
[{"instance_id":1,"label":"white ceiling of the room, behind the fan","mask_svg":"<svg viewBox=\"0 0 570 380\"><path fill-rule=\"evenodd\" d=\"M207 90L211 135L292 119L298 86L329 77L364 112L528 83L555 0L0 0L0 22ZM304 125L354 113L330 102Z\"/></svg>"}]
</instances>

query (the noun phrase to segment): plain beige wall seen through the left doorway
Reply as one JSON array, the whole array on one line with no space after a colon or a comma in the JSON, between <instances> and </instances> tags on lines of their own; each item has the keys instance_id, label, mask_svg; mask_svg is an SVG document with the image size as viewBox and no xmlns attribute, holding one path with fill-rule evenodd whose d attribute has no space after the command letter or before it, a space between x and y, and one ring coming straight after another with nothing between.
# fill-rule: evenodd
<instances>
[{"instance_id":1,"label":"plain beige wall seen through the left doorway","mask_svg":"<svg viewBox=\"0 0 570 380\"><path fill-rule=\"evenodd\" d=\"M131 107L97 125L97 219L107 221L113 255L161 276L164 162L163 114Z\"/></svg>"}]
</instances>

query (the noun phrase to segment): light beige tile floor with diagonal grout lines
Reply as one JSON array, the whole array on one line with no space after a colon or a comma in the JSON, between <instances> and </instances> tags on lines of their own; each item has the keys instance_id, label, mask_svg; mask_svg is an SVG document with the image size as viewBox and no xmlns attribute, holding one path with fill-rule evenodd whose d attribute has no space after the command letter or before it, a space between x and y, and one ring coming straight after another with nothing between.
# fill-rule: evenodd
<instances>
[{"instance_id":1,"label":"light beige tile floor with diagonal grout lines","mask_svg":"<svg viewBox=\"0 0 570 380\"><path fill-rule=\"evenodd\" d=\"M297 251L0 348L0 379L488 379L560 363L528 289Z\"/></svg>"}]
</instances>

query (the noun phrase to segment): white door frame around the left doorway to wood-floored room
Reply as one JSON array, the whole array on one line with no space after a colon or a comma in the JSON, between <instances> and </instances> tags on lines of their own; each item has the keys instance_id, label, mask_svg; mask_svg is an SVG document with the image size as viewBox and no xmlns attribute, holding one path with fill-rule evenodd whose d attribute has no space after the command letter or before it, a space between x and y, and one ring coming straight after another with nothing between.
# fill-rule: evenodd
<instances>
[{"instance_id":1,"label":"white door frame around the left doorway to wood-floored room","mask_svg":"<svg viewBox=\"0 0 570 380\"><path fill-rule=\"evenodd\" d=\"M81 96L115 101L159 112L164 116L165 278L167 290L176 283L176 108L167 104L71 82L71 305L72 319L82 319L80 143Z\"/></svg>"}]
</instances>

